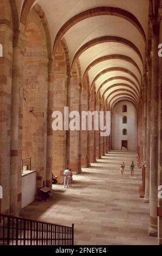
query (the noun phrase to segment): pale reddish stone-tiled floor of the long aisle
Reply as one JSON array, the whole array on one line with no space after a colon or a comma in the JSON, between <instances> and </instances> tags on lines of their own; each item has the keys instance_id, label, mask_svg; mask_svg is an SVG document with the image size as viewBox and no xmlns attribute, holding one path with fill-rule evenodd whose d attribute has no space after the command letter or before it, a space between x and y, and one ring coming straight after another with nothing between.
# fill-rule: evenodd
<instances>
[{"instance_id":1,"label":"pale reddish stone-tiled floor of the long aisle","mask_svg":"<svg viewBox=\"0 0 162 256\"><path fill-rule=\"evenodd\" d=\"M135 160L134 178L130 162ZM126 162L123 177L121 162ZM62 225L75 224L76 245L157 245L148 236L149 204L139 198L141 170L133 152L111 151L83 174L74 175L72 188L53 185L53 198L34 202L23 217Z\"/></svg>"}]
</instances>

